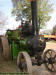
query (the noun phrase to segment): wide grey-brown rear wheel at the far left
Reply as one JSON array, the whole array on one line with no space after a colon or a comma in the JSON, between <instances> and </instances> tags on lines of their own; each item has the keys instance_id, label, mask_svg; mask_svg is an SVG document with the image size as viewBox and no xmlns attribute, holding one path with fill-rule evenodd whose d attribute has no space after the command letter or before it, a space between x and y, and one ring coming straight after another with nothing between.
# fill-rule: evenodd
<instances>
[{"instance_id":1,"label":"wide grey-brown rear wheel at the far left","mask_svg":"<svg viewBox=\"0 0 56 75\"><path fill-rule=\"evenodd\" d=\"M8 60L9 59L9 43L6 37L1 37L1 41L2 41L2 54L3 57Z\"/></svg>"}]
</instances>

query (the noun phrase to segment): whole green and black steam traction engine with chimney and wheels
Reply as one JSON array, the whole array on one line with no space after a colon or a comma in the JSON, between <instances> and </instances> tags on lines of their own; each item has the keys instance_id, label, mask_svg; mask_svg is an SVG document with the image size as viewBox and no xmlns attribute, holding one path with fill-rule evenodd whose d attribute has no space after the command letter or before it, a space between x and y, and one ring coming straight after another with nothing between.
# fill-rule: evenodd
<instances>
[{"instance_id":1,"label":"whole green and black steam traction engine with chimney and wheels","mask_svg":"<svg viewBox=\"0 0 56 75\"><path fill-rule=\"evenodd\" d=\"M44 51L46 42L38 34L36 0L31 0L31 11L32 26L28 21L22 22L22 28L17 30L17 36L8 30L8 37L0 38L3 56L8 59L10 54L12 60L16 56L19 71L28 72L30 75L32 75L32 65L45 64L48 70L56 72L56 51L52 49Z\"/></svg>"}]
</instances>

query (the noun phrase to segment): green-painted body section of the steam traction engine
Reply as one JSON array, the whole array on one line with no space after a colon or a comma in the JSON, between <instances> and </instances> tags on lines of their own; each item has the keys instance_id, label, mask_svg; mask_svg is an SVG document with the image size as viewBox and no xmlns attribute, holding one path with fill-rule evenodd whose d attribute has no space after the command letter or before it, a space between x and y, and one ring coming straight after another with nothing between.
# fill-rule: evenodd
<instances>
[{"instance_id":1,"label":"green-painted body section of the steam traction engine","mask_svg":"<svg viewBox=\"0 0 56 75\"><path fill-rule=\"evenodd\" d=\"M30 50L28 50L26 46L26 41L29 37L24 39L21 38L21 29L18 30L9 30L7 31L8 41L10 45L12 45L13 50L13 59L17 58L18 52L27 51L30 54ZM11 57L11 46L10 46L10 57Z\"/></svg>"}]
</instances>

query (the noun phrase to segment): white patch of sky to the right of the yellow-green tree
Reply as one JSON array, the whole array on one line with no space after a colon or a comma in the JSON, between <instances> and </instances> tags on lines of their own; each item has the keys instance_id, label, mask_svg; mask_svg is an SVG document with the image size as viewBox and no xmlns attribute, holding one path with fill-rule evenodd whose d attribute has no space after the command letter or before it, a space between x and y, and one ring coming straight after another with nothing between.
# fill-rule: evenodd
<instances>
[{"instance_id":1,"label":"white patch of sky to the right of the yellow-green tree","mask_svg":"<svg viewBox=\"0 0 56 75\"><path fill-rule=\"evenodd\" d=\"M51 0L53 3L53 12L50 13L51 19L47 22L46 29L52 29L56 25L56 0Z\"/></svg>"}]
</instances>

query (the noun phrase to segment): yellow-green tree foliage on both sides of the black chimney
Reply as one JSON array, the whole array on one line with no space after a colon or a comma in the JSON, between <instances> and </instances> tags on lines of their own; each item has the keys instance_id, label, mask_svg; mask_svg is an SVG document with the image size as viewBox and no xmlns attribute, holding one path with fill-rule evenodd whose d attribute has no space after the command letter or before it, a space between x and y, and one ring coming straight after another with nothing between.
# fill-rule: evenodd
<instances>
[{"instance_id":1,"label":"yellow-green tree foliage on both sides of the black chimney","mask_svg":"<svg viewBox=\"0 0 56 75\"><path fill-rule=\"evenodd\" d=\"M18 0L13 0L13 1L18 1ZM19 7L23 7L22 9L20 9L20 11L27 16L27 18L29 19L29 21L31 21L31 5L30 2L28 0L24 0L23 4L20 2L14 2L16 5L16 9L18 9ZM18 6L19 3L19 6ZM46 22L49 21L51 19L51 16L49 15L50 12L52 11L52 4L49 2L49 0L39 0L38 1L38 26L39 29L43 28L46 26Z\"/></svg>"}]
</instances>

